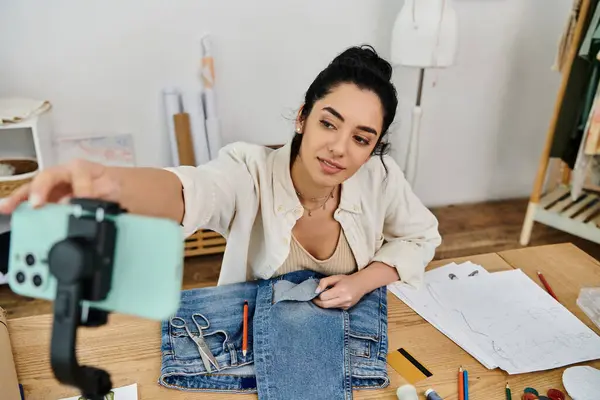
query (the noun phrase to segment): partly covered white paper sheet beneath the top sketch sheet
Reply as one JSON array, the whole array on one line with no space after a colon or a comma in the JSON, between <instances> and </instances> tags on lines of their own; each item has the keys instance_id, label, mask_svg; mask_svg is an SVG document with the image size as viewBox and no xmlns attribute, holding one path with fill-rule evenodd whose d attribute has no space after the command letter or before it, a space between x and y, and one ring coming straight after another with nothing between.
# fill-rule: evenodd
<instances>
[{"instance_id":1,"label":"partly covered white paper sheet beneath the top sketch sheet","mask_svg":"<svg viewBox=\"0 0 600 400\"><path fill-rule=\"evenodd\" d=\"M488 274L489 272L485 268L471 262L450 263L426 272L424 285L420 289L415 289L403 283L394 283L389 285L388 289L415 310L423 319L470 353L486 368L493 369L497 367L495 360L478 348L471 337L465 333L466 325L464 321L452 318L447 310L435 300L430 290L431 285L434 283L470 282Z\"/></svg>"}]
</instances>

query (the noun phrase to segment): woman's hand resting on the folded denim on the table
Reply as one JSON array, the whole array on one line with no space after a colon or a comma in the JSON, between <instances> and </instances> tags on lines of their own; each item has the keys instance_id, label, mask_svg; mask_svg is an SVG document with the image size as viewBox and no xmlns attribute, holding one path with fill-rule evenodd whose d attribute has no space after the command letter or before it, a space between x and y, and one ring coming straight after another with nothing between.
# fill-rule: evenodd
<instances>
[{"instance_id":1,"label":"woman's hand resting on the folded denim on the table","mask_svg":"<svg viewBox=\"0 0 600 400\"><path fill-rule=\"evenodd\" d=\"M331 288L325 290L328 287ZM317 292L322 293L313 299L316 305L344 310L355 305L366 293L363 282L358 279L358 273L325 277L319 281Z\"/></svg>"}]
</instances>

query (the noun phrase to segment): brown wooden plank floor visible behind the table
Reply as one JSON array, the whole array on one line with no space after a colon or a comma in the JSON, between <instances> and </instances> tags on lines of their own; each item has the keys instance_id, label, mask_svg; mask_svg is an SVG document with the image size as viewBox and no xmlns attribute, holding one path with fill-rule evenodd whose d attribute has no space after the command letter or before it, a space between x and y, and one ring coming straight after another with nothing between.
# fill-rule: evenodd
<instances>
[{"instance_id":1,"label":"brown wooden plank floor visible behind the table","mask_svg":"<svg viewBox=\"0 0 600 400\"><path fill-rule=\"evenodd\" d=\"M469 256L521 247L519 235L527 200L464 204L433 209L440 222L443 244L436 259ZM535 224L530 246L571 242L600 260L600 245ZM186 261L184 289L215 285L220 256L195 257ZM15 295L7 285L0 286L0 306L9 318L52 312L52 304Z\"/></svg>"}]
</instances>

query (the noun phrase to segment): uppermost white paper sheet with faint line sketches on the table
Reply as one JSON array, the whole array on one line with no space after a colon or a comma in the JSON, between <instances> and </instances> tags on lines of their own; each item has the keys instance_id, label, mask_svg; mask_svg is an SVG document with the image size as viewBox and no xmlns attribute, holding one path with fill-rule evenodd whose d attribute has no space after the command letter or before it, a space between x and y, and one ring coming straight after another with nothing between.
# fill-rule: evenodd
<instances>
[{"instance_id":1,"label":"uppermost white paper sheet with faint line sketches on the table","mask_svg":"<svg viewBox=\"0 0 600 400\"><path fill-rule=\"evenodd\" d=\"M521 270L430 285L451 319L509 374L600 359L600 337Z\"/></svg>"}]
</instances>

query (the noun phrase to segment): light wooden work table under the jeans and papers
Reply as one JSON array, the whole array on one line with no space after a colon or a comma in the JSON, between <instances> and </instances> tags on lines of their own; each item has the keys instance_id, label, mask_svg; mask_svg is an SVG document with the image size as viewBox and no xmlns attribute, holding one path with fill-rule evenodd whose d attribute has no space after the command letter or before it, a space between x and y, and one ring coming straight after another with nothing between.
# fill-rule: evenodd
<instances>
[{"instance_id":1,"label":"light wooden work table under the jeans and papers","mask_svg":"<svg viewBox=\"0 0 600 400\"><path fill-rule=\"evenodd\" d=\"M520 268L535 282L536 271L544 273L559 300L585 324L598 330L575 304L579 289L600 286L600 263L570 244L550 245L484 254L462 259L436 261L436 268L451 261L470 260L490 272ZM470 398L504 399L508 381L513 399L520 399L523 389L531 386L545 392L552 387L564 391L564 368L508 376L500 370L487 370L454 342L428 324L411 308L389 295L389 348L403 347L422 362L433 376L417 383L419 391L434 388L445 400L457 398L457 371L460 365L469 371ZM70 387L58 385L49 365L51 316L9 320L11 342L20 383L27 400L58 399L77 394ZM78 337L80 363L109 371L115 387L138 383L140 399L256 399L256 395L182 392L159 386L159 323L123 315L112 315L109 324L100 328L81 329ZM600 361L585 363L600 368ZM391 384L387 389L355 391L357 399L396 399L396 389L406 381L388 367ZM422 397L424 398L424 397Z\"/></svg>"}]
</instances>

